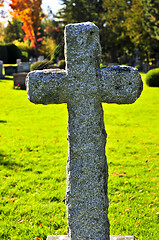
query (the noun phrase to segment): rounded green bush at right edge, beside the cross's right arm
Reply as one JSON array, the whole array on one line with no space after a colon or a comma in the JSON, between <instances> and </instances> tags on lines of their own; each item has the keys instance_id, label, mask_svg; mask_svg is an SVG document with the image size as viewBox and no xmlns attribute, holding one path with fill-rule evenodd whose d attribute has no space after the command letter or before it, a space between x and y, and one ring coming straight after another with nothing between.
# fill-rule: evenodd
<instances>
[{"instance_id":1,"label":"rounded green bush at right edge, beside the cross's right arm","mask_svg":"<svg viewBox=\"0 0 159 240\"><path fill-rule=\"evenodd\" d=\"M159 68L148 71L146 74L146 84L150 87L159 87Z\"/></svg>"}]
</instances>

